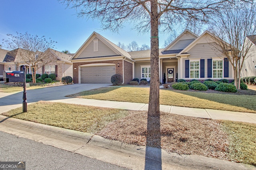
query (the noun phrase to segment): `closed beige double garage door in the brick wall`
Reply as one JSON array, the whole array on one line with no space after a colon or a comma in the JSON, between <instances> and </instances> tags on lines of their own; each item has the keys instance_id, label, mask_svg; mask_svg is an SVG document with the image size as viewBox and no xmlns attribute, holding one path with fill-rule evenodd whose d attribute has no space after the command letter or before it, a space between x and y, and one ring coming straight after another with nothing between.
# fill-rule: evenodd
<instances>
[{"instance_id":1,"label":"closed beige double garage door in the brick wall","mask_svg":"<svg viewBox=\"0 0 256 170\"><path fill-rule=\"evenodd\" d=\"M114 65L81 67L81 83L111 83L111 76L116 74Z\"/></svg>"}]
</instances>

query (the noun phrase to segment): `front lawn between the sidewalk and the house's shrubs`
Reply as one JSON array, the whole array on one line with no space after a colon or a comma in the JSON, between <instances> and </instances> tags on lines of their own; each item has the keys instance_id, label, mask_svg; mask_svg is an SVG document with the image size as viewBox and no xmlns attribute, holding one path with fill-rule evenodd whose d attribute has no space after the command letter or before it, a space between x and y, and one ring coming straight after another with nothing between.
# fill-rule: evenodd
<instances>
[{"instance_id":1,"label":"front lawn between the sidewalk and the house's shrubs","mask_svg":"<svg viewBox=\"0 0 256 170\"><path fill-rule=\"evenodd\" d=\"M149 88L106 87L68 97L111 100L120 102L148 103ZM160 104L256 113L255 95L215 94L160 89Z\"/></svg>"}]
</instances>

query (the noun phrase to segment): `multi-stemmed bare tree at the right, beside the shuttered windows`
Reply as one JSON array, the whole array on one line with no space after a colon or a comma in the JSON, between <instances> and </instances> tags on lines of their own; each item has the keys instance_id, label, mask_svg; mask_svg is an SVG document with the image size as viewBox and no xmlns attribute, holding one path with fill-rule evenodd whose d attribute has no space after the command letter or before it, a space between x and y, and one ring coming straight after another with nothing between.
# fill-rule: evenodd
<instances>
[{"instance_id":1,"label":"multi-stemmed bare tree at the right, beside the shuttered windows","mask_svg":"<svg viewBox=\"0 0 256 170\"><path fill-rule=\"evenodd\" d=\"M256 7L253 0L234 4L219 12L213 21L211 32L215 35L214 49L228 59L234 70L234 85L240 89L243 63L252 53L256 36ZM255 53L256 51L254 51Z\"/></svg>"}]
</instances>

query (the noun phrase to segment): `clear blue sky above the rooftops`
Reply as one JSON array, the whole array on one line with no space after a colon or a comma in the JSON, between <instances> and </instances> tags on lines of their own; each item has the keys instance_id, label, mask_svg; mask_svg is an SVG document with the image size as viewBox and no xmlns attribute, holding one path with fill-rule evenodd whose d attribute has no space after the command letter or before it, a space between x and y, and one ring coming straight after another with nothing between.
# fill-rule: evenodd
<instances>
[{"instance_id":1,"label":"clear blue sky above the rooftops","mask_svg":"<svg viewBox=\"0 0 256 170\"><path fill-rule=\"evenodd\" d=\"M0 42L7 33L28 32L32 35L46 36L57 41L57 51L69 50L75 53L93 31L117 44L128 45L136 41L139 46L150 46L150 32L143 35L126 25L119 33L102 31L97 20L77 18L74 9L66 8L57 0L1 0L0 5ZM167 34L159 35L162 47Z\"/></svg>"}]
</instances>

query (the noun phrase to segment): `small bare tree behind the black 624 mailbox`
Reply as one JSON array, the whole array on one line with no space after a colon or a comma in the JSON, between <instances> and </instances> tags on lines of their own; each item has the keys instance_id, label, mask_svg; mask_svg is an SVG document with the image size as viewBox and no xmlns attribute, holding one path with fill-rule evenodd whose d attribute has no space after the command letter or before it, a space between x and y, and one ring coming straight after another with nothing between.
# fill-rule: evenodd
<instances>
[{"instance_id":1,"label":"small bare tree behind the black 624 mailbox","mask_svg":"<svg viewBox=\"0 0 256 170\"><path fill-rule=\"evenodd\" d=\"M36 70L53 61L49 57L49 54L44 52L48 48L53 48L56 42L50 38L46 39L44 36L38 37L38 35L31 35L27 32L24 34L17 32L17 35L7 34L7 36L8 39L2 40L3 47L12 50L9 52L13 53L11 55L18 55L20 61L32 67L34 70L34 72L32 71L32 78L33 83L35 83Z\"/></svg>"}]
</instances>

